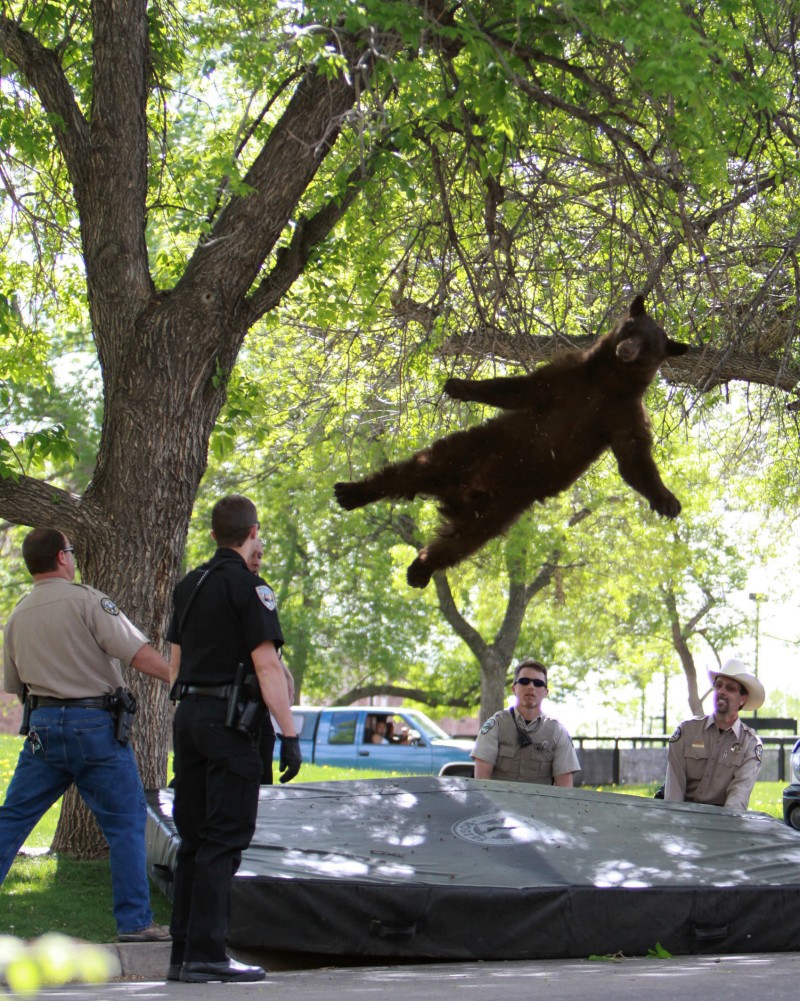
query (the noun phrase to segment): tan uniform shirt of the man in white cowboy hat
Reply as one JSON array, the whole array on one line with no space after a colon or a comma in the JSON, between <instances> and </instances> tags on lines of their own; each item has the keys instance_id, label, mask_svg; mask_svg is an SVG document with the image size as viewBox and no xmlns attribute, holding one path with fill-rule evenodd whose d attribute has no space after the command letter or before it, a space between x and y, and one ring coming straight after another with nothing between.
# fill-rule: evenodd
<instances>
[{"instance_id":1,"label":"tan uniform shirt of the man in white cowboy hat","mask_svg":"<svg viewBox=\"0 0 800 1001\"><path fill-rule=\"evenodd\" d=\"M742 720L722 733L713 716L686 720L670 738L664 799L747 810L761 751Z\"/></svg>"}]
</instances>

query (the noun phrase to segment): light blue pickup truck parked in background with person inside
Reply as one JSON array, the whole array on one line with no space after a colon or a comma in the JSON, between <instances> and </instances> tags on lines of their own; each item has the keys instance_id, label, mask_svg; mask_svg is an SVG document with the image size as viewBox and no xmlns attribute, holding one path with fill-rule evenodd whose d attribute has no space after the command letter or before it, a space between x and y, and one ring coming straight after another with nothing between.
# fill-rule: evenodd
<instances>
[{"instance_id":1,"label":"light blue pickup truck parked in background with person inside","mask_svg":"<svg viewBox=\"0 0 800 1001\"><path fill-rule=\"evenodd\" d=\"M291 715L307 763L412 775L439 775L446 765L452 775L462 763L472 774L474 742L449 737L415 709L293 706ZM276 742L276 759L279 753Z\"/></svg>"}]
</instances>

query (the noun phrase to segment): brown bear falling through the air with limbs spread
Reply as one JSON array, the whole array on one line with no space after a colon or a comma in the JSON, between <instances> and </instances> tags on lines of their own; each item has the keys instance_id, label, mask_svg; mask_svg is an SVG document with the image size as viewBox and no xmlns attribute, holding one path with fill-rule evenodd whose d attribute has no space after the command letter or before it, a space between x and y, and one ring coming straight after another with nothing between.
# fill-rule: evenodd
<instances>
[{"instance_id":1,"label":"brown bear falling through the air with limbs spread","mask_svg":"<svg viewBox=\"0 0 800 1001\"><path fill-rule=\"evenodd\" d=\"M653 460L647 387L666 358L688 345L671 340L638 295L614 328L583 352L560 355L530 375L451 378L445 391L508 412L440 438L411 458L334 485L342 508L381 497L436 497L444 523L409 567L413 588L477 552L536 500L555 496L607 449L620 473L666 518L681 511Z\"/></svg>"}]
</instances>

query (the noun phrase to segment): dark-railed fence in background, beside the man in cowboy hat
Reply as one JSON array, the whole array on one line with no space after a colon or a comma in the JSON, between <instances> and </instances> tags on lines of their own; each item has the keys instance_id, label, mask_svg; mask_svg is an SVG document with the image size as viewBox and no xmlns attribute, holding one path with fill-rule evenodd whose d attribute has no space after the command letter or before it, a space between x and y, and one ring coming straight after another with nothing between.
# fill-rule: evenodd
<instances>
[{"instance_id":1,"label":"dark-railed fence in background, beside the man in cowboy hat","mask_svg":"<svg viewBox=\"0 0 800 1001\"><path fill-rule=\"evenodd\" d=\"M638 786L663 782L669 734L657 737L573 737L584 786ZM762 737L764 758L759 782L791 782L790 757L798 739Z\"/></svg>"}]
</instances>

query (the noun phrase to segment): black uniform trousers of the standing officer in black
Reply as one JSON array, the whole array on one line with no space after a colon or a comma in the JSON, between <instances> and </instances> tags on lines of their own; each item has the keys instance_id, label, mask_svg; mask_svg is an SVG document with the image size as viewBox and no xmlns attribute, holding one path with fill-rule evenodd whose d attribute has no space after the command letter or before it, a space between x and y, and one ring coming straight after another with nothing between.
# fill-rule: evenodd
<instances>
[{"instance_id":1,"label":"black uniform trousers of the standing officer in black","mask_svg":"<svg viewBox=\"0 0 800 1001\"><path fill-rule=\"evenodd\" d=\"M172 964L224 961L230 884L255 830L258 751L224 726L225 709L222 699L190 695L175 712Z\"/></svg>"}]
</instances>

